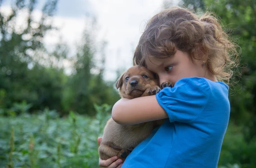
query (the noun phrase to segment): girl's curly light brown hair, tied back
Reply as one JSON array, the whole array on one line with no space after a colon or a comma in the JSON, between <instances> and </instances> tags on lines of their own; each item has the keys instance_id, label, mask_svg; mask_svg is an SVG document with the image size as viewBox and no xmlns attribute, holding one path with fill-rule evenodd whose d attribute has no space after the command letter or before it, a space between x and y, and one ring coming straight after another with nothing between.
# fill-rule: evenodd
<instances>
[{"instance_id":1,"label":"girl's curly light brown hair, tied back","mask_svg":"<svg viewBox=\"0 0 256 168\"><path fill-rule=\"evenodd\" d=\"M193 59L207 56L206 66L227 84L237 67L237 45L229 40L220 23L209 13L198 16L186 8L172 7L152 17L134 52L134 65L145 66L145 58L160 59L185 51Z\"/></svg>"}]
</instances>

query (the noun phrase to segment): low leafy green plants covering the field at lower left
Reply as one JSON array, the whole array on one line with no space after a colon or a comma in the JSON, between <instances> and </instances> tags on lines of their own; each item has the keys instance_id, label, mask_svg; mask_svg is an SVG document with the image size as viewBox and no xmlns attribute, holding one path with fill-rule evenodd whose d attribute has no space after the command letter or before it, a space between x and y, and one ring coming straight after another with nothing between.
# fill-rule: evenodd
<instances>
[{"instance_id":1,"label":"low leafy green plants covering the field at lower left","mask_svg":"<svg viewBox=\"0 0 256 168\"><path fill-rule=\"evenodd\" d=\"M102 136L111 106L94 105L96 118L70 112L0 118L0 167L96 168L97 138Z\"/></svg>"}]
</instances>

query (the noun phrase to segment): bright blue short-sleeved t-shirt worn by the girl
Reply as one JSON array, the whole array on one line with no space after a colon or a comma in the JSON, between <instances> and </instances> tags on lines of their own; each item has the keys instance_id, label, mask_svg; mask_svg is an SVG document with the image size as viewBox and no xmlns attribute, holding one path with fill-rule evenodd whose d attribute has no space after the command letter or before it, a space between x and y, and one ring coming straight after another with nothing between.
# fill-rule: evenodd
<instances>
[{"instance_id":1,"label":"bright blue short-sleeved t-shirt worn by the girl","mask_svg":"<svg viewBox=\"0 0 256 168\"><path fill-rule=\"evenodd\" d=\"M183 78L156 97L169 118L134 148L122 168L216 168L230 116L227 84Z\"/></svg>"}]
</instances>

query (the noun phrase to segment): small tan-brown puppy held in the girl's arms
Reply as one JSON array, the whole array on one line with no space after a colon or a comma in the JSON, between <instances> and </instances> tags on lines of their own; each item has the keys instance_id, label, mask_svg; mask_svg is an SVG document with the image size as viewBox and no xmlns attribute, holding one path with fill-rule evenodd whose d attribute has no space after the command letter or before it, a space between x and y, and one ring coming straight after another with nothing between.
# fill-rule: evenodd
<instances>
[{"instance_id":1,"label":"small tan-brown puppy held in the girl's arms","mask_svg":"<svg viewBox=\"0 0 256 168\"><path fill-rule=\"evenodd\" d=\"M122 98L138 98L147 95L155 95L160 91L159 81L152 72L145 67L134 66L129 68L116 81L116 88ZM171 85L170 82L161 84L161 87ZM123 126L110 118L105 126L102 141L99 146L99 157L107 160L117 156L123 161L128 154L141 141L148 137L151 131L163 120L150 121L136 125Z\"/></svg>"}]
</instances>

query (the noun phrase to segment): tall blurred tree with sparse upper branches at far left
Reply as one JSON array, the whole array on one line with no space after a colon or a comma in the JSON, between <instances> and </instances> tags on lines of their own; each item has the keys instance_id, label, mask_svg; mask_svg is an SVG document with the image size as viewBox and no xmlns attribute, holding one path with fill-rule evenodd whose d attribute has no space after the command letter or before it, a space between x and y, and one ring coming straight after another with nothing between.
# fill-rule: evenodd
<instances>
[{"instance_id":1,"label":"tall blurred tree with sparse upper branches at far left","mask_svg":"<svg viewBox=\"0 0 256 168\"><path fill-rule=\"evenodd\" d=\"M42 39L47 31L54 29L49 20L57 2L48 0L45 3L39 21L33 20L32 15L35 0L16 0L9 16L0 13L0 90L5 92L2 108L26 101L33 104L32 109L44 106L59 109L63 70L45 67L39 61L42 56L49 56ZM18 27L22 12L27 17L22 18L23 24Z\"/></svg>"}]
</instances>

